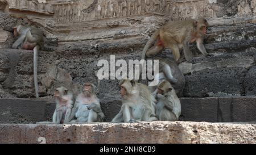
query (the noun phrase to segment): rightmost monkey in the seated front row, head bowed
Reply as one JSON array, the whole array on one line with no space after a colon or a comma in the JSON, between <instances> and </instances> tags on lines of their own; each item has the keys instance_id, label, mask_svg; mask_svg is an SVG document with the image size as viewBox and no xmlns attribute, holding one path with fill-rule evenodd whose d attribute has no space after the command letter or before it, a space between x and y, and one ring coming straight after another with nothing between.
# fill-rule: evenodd
<instances>
[{"instance_id":1,"label":"rightmost monkey in the seated front row, head bowed","mask_svg":"<svg viewBox=\"0 0 256 155\"><path fill-rule=\"evenodd\" d=\"M166 80L159 83L154 95L158 100L155 106L156 117L163 121L179 120L181 104L171 83Z\"/></svg>"}]
</instances>

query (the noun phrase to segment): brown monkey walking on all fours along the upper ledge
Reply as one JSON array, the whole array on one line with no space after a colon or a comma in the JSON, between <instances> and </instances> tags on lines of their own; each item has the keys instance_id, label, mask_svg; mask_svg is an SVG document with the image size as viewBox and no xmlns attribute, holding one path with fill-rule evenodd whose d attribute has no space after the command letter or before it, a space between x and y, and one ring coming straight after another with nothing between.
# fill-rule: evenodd
<instances>
[{"instance_id":1,"label":"brown monkey walking on all fours along the upper ledge","mask_svg":"<svg viewBox=\"0 0 256 155\"><path fill-rule=\"evenodd\" d=\"M149 55L156 55L164 48L170 48L175 60L179 61L179 48L183 47L185 59L190 61L192 58L192 52L189 49L189 43L193 43L194 41L196 41L199 51L204 56L207 56L208 53L205 50L203 39L207 33L208 26L209 24L204 18L169 22L159 28L158 31L154 32L147 41L142 52L142 59ZM155 41L156 44L154 47L150 48Z\"/></svg>"}]
</instances>

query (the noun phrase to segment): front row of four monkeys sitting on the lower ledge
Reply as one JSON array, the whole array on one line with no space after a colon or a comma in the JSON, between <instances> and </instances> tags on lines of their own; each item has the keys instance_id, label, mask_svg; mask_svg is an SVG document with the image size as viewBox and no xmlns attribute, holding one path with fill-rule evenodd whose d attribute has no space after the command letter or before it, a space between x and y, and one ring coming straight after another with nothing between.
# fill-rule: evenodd
<instances>
[{"instance_id":1,"label":"front row of four monkeys sitting on the lower ledge","mask_svg":"<svg viewBox=\"0 0 256 155\"><path fill-rule=\"evenodd\" d=\"M153 93L146 85L134 80L123 79L119 82L119 86L122 106L113 118L113 123L179 119L180 100L167 80L160 82ZM86 82L82 93L73 99L71 91L63 86L58 87L54 94L56 108L52 123L103 122L105 115L95 90L93 83Z\"/></svg>"}]
</instances>

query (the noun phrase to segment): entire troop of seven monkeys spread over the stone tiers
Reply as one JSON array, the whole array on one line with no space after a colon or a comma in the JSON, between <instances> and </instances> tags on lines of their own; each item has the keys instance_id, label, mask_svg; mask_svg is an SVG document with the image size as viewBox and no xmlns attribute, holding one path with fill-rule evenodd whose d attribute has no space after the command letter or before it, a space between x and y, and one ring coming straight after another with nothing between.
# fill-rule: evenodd
<instances>
[{"instance_id":1,"label":"entire troop of seven monkeys spread over the stone tiers","mask_svg":"<svg viewBox=\"0 0 256 155\"><path fill-rule=\"evenodd\" d=\"M130 79L120 81L122 106L112 122L178 120L181 113L178 97L182 96L185 85L185 78L177 66L181 61L179 49L183 48L184 58L189 62L192 58L189 43L196 41L199 51L204 56L208 55L203 44L208 26L204 18L187 19L168 22L153 33L143 49L142 59L157 55L164 48L170 48L175 61L170 58L159 59L159 73L155 76L159 79L157 86L148 87ZM37 61L38 51L43 46L43 33L34 26L19 24L14 27L14 35L18 36L18 39L13 44L13 48L34 50L34 82L36 98L38 98ZM95 90L93 83L86 82L82 93L73 99L72 92L67 88L61 86L55 89L56 109L52 122L102 122L104 113Z\"/></svg>"}]
</instances>

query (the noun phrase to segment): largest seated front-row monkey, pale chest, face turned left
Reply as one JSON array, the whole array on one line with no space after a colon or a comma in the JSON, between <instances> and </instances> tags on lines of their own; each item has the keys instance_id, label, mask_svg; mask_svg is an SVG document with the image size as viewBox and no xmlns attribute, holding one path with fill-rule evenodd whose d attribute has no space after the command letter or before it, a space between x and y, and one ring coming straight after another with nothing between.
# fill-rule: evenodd
<instances>
[{"instance_id":1,"label":"largest seated front-row monkey, pale chest, face turned left","mask_svg":"<svg viewBox=\"0 0 256 155\"><path fill-rule=\"evenodd\" d=\"M123 79L119 82L119 86L121 87L122 106L113 118L113 123L157 120L155 98L146 85Z\"/></svg>"}]
</instances>

